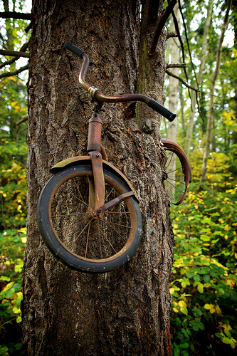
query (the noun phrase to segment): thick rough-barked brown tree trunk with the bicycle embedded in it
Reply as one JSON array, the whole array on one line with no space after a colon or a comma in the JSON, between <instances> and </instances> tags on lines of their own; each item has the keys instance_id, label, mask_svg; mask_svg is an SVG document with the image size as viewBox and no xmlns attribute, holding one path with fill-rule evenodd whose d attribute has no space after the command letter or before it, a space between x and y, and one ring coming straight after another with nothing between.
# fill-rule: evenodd
<instances>
[{"instance_id":1,"label":"thick rough-barked brown tree trunk with the bicycle embedded in it","mask_svg":"<svg viewBox=\"0 0 237 356\"><path fill-rule=\"evenodd\" d=\"M160 1L159 14L162 6ZM156 129L144 132L138 116L125 120L125 105L105 105L101 114L108 158L139 195L142 243L129 263L102 275L71 271L44 246L36 224L36 204L51 175L48 169L62 159L85 155L94 108L79 88L80 60L63 43L70 41L88 53L89 83L108 95L134 93L139 2L35 0L32 15L22 355L169 356L173 235L161 183L159 117ZM165 33L157 53L159 68L152 73L157 70L161 80L159 98L164 38Z\"/></svg>"}]
</instances>

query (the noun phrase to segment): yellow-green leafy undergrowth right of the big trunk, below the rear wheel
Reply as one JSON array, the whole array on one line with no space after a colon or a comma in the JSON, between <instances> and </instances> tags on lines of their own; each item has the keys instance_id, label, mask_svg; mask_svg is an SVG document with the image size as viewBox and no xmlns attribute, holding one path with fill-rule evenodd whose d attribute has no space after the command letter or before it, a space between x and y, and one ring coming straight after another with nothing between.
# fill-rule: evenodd
<instances>
[{"instance_id":1,"label":"yellow-green leafy undergrowth right of the big trunk, below the rear wheel","mask_svg":"<svg viewBox=\"0 0 237 356\"><path fill-rule=\"evenodd\" d=\"M194 162L198 174L199 164ZM172 209L174 355L236 352L237 182L230 167L228 155L211 155L205 189L199 189L194 175L185 203Z\"/></svg>"}]
</instances>

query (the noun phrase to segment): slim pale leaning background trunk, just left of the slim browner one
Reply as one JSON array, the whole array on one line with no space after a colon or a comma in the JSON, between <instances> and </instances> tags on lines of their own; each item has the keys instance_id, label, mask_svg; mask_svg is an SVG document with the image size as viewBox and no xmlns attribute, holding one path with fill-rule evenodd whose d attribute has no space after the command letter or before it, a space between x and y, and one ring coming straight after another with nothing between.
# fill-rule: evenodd
<instances>
[{"instance_id":1,"label":"slim pale leaning background trunk, just left of the slim browner one","mask_svg":"<svg viewBox=\"0 0 237 356\"><path fill-rule=\"evenodd\" d=\"M204 27L204 36L203 36L202 46L201 46L199 73L196 75L196 80L199 85L199 88L201 87L201 81L202 81L201 78L202 78L202 73L204 71L206 50L207 50L207 44L208 44L207 40L209 38L208 34L209 34L209 27L210 27L210 23L211 23L212 8L213 8L213 0L209 0L209 6L207 9L206 22L205 22L205 27ZM190 149L190 144L191 144L191 136L194 131L195 112L196 112L196 92L193 90L191 92L191 112L189 115L189 125L188 125L188 129L186 132L186 140L185 140L185 145L184 145L184 151L188 157L189 157L189 149Z\"/></svg>"}]
</instances>

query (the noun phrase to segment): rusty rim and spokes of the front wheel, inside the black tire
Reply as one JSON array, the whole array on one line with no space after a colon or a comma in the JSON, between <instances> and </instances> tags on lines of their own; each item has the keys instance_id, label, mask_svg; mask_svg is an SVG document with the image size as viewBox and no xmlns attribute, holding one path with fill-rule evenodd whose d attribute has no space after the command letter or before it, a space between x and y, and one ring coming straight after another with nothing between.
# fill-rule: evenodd
<instances>
[{"instance_id":1,"label":"rusty rim and spokes of the front wheel, inside the black tire","mask_svg":"<svg viewBox=\"0 0 237 356\"><path fill-rule=\"evenodd\" d=\"M102 217L88 219L88 177L92 172L73 172L53 189L48 206L56 239L73 256L102 263L126 253L136 234L137 218L130 198ZM120 184L105 175L105 202L125 193Z\"/></svg>"}]
</instances>

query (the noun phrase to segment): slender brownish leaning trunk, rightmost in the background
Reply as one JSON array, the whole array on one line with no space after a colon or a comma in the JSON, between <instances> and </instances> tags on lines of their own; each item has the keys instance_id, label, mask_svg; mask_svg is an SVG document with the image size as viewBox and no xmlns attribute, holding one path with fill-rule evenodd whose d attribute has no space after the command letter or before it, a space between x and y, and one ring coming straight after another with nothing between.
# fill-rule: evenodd
<instances>
[{"instance_id":1,"label":"slender brownish leaning trunk, rightmost in the background","mask_svg":"<svg viewBox=\"0 0 237 356\"><path fill-rule=\"evenodd\" d=\"M214 126L214 115L213 115L213 112L214 112L214 88L215 88L216 78L217 78L218 71L219 71L220 64L221 64L222 43L223 43L223 38L224 38L224 35L226 32L226 28L228 25L228 13L231 9L231 2L232 2L231 0L228 0L226 15L225 15L225 18L223 21L223 26L221 29L221 37L220 37L220 41L218 43L218 51L216 54L216 69L214 72L214 76L211 80L209 115L208 115L207 127L206 127L206 144L205 144L204 157L203 157L202 167L201 167L200 184L204 183L205 179L206 179L207 161L209 158L211 135L212 135L213 126Z\"/></svg>"}]
</instances>

